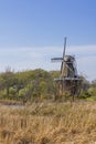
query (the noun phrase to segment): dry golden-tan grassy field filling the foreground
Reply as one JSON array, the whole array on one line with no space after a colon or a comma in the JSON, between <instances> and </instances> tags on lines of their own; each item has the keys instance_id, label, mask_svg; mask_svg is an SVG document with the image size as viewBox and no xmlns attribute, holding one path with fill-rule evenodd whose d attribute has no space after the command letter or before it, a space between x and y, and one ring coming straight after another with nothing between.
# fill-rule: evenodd
<instances>
[{"instance_id":1,"label":"dry golden-tan grassy field filling the foreground","mask_svg":"<svg viewBox=\"0 0 96 144\"><path fill-rule=\"evenodd\" d=\"M96 144L96 102L1 104L0 144Z\"/></svg>"}]
</instances>

